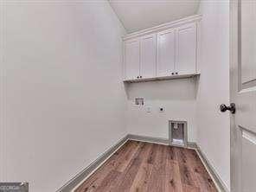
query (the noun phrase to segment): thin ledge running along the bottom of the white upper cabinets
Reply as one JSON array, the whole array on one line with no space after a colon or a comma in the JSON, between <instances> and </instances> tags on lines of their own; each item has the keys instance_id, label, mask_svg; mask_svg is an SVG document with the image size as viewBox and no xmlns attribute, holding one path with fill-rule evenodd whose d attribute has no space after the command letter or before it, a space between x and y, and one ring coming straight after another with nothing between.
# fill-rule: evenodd
<instances>
[{"instance_id":1,"label":"thin ledge running along the bottom of the white upper cabinets","mask_svg":"<svg viewBox=\"0 0 256 192\"><path fill-rule=\"evenodd\" d=\"M157 80L176 80L176 79L186 79L199 76L200 74L175 74L170 76L163 77L152 77L152 78L140 78L135 80L124 80L126 83L136 83L136 82L145 82L145 81L157 81Z\"/></svg>"}]
</instances>

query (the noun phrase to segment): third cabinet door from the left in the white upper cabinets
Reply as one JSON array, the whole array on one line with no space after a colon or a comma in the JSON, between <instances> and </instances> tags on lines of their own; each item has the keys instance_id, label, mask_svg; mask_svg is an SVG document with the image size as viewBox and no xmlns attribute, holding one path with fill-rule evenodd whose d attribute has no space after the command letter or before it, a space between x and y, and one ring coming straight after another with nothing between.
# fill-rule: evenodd
<instances>
[{"instance_id":1,"label":"third cabinet door from the left in the white upper cabinets","mask_svg":"<svg viewBox=\"0 0 256 192\"><path fill-rule=\"evenodd\" d=\"M175 72L176 31L166 30L157 34L157 76L170 76Z\"/></svg>"}]
</instances>

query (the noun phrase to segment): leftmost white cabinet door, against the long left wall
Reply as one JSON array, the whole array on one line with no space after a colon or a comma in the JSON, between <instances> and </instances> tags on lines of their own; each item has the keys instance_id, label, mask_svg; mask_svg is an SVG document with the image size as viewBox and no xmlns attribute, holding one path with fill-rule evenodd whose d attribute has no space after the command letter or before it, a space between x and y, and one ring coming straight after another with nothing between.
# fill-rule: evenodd
<instances>
[{"instance_id":1,"label":"leftmost white cabinet door, against the long left wall","mask_svg":"<svg viewBox=\"0 0 256 192\"><path fill-rule=\"evenodd\" d=\"M125 80L137 79L139 75L139 39L124 42Z\"/></svg>"}]
</instances>

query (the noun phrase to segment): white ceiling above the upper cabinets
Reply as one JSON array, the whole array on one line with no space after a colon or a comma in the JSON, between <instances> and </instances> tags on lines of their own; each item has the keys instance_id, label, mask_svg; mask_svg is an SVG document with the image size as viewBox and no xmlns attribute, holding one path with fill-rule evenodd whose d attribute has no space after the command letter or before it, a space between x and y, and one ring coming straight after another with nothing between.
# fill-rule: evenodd
<instances>
[{"instance_id":1,"label":"white ceiling above the upper cabinets","mask_svg":"<svg viewBox=\"0 0 256 192\"><path fill-rule=\"evenodd\" d=\"M200 0L109 0L128 33L195 15Z\"/></svg>"}]
</instances>

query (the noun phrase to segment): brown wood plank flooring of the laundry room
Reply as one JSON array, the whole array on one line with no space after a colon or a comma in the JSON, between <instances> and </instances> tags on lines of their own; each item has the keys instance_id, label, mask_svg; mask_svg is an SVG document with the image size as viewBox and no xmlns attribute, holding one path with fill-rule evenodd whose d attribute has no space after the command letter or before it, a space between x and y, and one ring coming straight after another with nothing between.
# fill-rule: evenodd
<instances>
[{"instance_id":1,"label":"brown wood plank flooring of the laundry room","mask_svg":"<svg viewBox=\"0 0 256 192\"><path fill-rule=\"evenodd\" d=\"M128 141L75 192L216 192L195 150Z\"/></svg>"}]
</instances>

